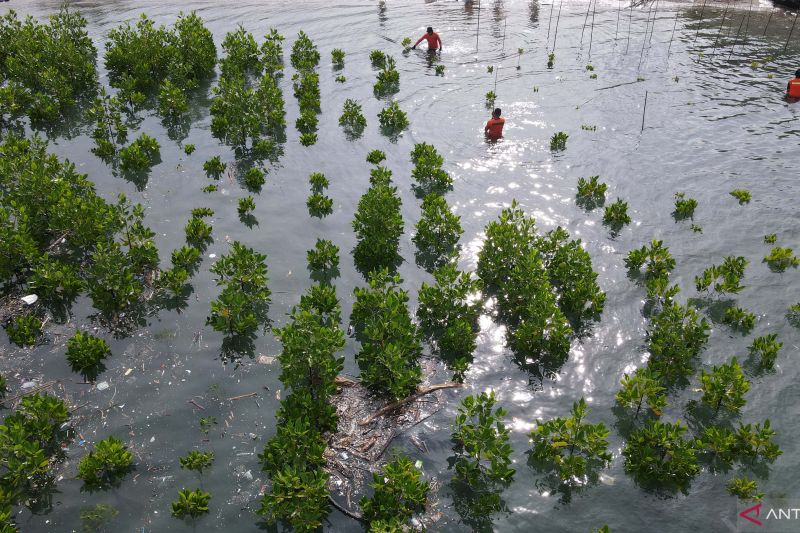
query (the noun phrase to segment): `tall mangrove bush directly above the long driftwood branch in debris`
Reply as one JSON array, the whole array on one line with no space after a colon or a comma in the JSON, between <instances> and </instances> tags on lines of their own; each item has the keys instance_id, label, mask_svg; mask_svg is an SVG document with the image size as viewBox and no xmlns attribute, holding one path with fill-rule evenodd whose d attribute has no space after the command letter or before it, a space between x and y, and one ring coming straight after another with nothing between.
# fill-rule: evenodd
<instances>
[{"instance_id":1,"label":"tall mangrove bush directly above the long driftwood branch in debris","mask_svg":"<svg viewBox=\"0 0 800 533\"><path fill-rule=\"evenodd\" d=\"M361 382L391 400L405 398L422 381L417 326L408 311L408 292L400 277L384 268L369 275L369 287L356 288L350 323L361 338L356 362Z\"/></svg>"}]
</instances>

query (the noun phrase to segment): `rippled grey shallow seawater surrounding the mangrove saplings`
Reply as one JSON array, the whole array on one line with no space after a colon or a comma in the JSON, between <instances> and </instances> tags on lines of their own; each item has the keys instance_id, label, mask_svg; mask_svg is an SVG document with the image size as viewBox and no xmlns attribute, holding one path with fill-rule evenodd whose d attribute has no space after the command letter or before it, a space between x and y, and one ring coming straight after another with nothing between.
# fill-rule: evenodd
<instances>
[{"instance_id":1,"label":"rippled grey shallow seawater surrounding the mangrove saplings","mask_svg":"<svg viewBox=\"0 0 800 533\"><path fill-rule=\"evenodd\" d=\"M59 4L57 0L27 0L4 4L3 10L14 8L42 17ZM217 459L202 479L212 494L211 515L201 519L197 528L258 531L254 510L265 477L257 454L274 433L281 388L277 362L260 364L258 357L274 356L280 346L266 334L256 341L253 358L227 364L220 359L221 336L204 326L209 302L218 291L208 272L213 261L209 254L225 253L227 241L232 240L266 253L273 292L270 318L282 325L310 284L306 250L318 237L331 239L343 252L342 276L336 286L343 314L348 316L352 290L364 281L344 252L355 244L350 222L368 187L369 165L364 158L378 148L388 155L385 164L394 172L403 199L406 232L401 254L405 262L400 274L413 304L420 284L429 280L414 264L411 242L420 202L411 189L409 153L414 143L423 141L436 146L455 178L447 200L461 216L465 230L462 268L475 268L483 228L516 199L536 218L541 231L561 225L583 240L600 286L607 292L602 319L590 336L574 342L569 360L555 377L541 379L520 369L504 348L503 331L488 318L483 320L466 387L446 391L445 409L396 440L396 447L422 461L428 478L444 485L440 493L444 516L437 529L465 529L447 489L449 423L461 397L487 389L495 390L499 404L508 411L517 468L514 483L503 492L507 511L494 516L495 530L588 532L605 523L619 532L728 531L733 527L735 502L725 492L731 475L704 472L694 480L688 496L665 498L641 490L623 472L624 442L615 428L614 394L622 374L647 358L645 293L627 278L623 257L652 239L663 240L676 258L673 280L682 289L682 302L698 297L694 276L710 264L726 255L750 260L746 288L735 300L759 316L757 327L743 337L714 324L702 366L732 356L741 359L752 337L778 333L784 346L776 372L753 379L741 418L772 420L784 454L759 484L768 496L798 501L800 372L795 363L800 331L784 315L790 304L800 301L800 273L796 269L772 273L762 263L770 248L763 243L765 234L777 233L779 245L800 248L800 104L783 99L786 80L800 66L796 61L800 30L783 52L793 13L773 9L768 2L739 2L728 8L718 2L708 2L704 8L700 2L656 2L631 8L603 1L597 2L594 12L586 2L539 5L521 0L485 0L480 10L477 2L465 6L421 0L85 0L73 5L89 21L105 84L105 36L142 12L170 24L180 10L196 9L218 45L238 24L257 38L275 26L287 36L284 49L288 51L302 29L322 53L323 112L319 142L302 147L293 127L298 110L290 75L282 79L288 142L256 197L258 225L252 229L238 219L236 202L246 193L236 182L223 178L220 192L200 191L208 183L202 170L206 159L213 155L234 159L232 151L210 134L210 89L208 98L193 102L191 131L184 140L197 146L191 157L167 138L157 117L142 122L141 131L161 142L162 156L146 183L113 176L89 151L92 141L86 127L71 138L53 139L52 150L87 173L105 198L124 192L147 207L146 222L158 234L165 262L169 252L182 244L182 228L193 207L215 210L214 243L206 251L193 280L194 294L183 312L162 311L130 337L109 339L114 356L100 378L110 385L106 390L81 383L63 356L66 336L92 312L86 301L78 302L68 324L50 329L49 344L32 351L9 347L0 334L0 366L12 394L32 379L58 380L55 390L73 406L80 433L70 446L52 511L42 515L22 511L18 516L22 531L80 530L81 508L99 502L120 511L111 528L189 531L191 524L169 516L169 504L177 490L197 485L194 474L178 467L177 457L200 445L214 451ZM416 38L428 25L443 39L444 77L434 75L424 52L403 55L396 44L405 36ZM554 42L555 66L549 70L547 50ZM334 82L329 59L333 48L347 53L343 85ZM396 143L378 129L376 115L384 103L372 95L374 72L368 59L369 51L376 48L398 60L401 88L397 99L411 121ZM517 48L525 49L521 58ZM761 63L768 55L775 57L768 68L751 68L751 61ZM597 79L589 78L585 69L589 63ZM489 65L495 66L496 76L487 73ZM486 143L482 136L488 118L484 95L489 90L497 92L497 105L508 121L505 139L495 144ZM337 122L346 98L359 101L369 121L365 135L354 142L345 138ZM582 125L596 126L596 130L583 130ZM554 156L549 139L557 131L569 133L569 140L566 151ZM130 138L134 135L138 132L131 132ZM328 195L335 202L334 213L321 221L310 218L305 207L307 176L315 171L330 179ZM575 205L577 180L590 175L599 175L609 184L610 199L620 197L630 204L633 223L618 236L610 236L602 225L600 210L586 213ZM740 206L728 195L734 188L751 191L753 201ZM678 191L699 201L694 223L702 226L702 233L691 231L689 222L672 219L673 195ZM348 340L345 371L352 375L358 372L353 360L356 350L355 341ZM686 402L699 398L696 387L693 382L670 396L668 420L685 419ZM227 400L251 392L256 396ZM611 429L614 460L604 483L573 494L567 504L558 495L537 489L540 477L526 465L527 432L537 418L567 415L581 396L590 404L589 419ZM217 424L207 434L198 424L201 416L216 418ZM411 434L425 441L428 453L411 444ZM117 489L81 492L81 482L74 478L77 460L85 453L81 448L108 435L126 440L135 451L136 472ZM359 527L334 511L327 529Z\"/></svg>"}]
</instances>

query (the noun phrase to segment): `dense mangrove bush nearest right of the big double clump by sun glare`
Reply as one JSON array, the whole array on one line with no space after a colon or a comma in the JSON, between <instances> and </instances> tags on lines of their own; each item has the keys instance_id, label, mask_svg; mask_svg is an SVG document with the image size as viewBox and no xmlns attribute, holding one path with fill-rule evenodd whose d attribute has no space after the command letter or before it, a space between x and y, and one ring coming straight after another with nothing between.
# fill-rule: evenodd
<instances>
[{"instance_id":1,"label":"dense mangrove bush nearest right of the big double clump by sun glare","mask_svg":"<svg viewBox=\"0 0 800 533\"><path fill-rule=\"evenodd\" d=\"M700 319L694 309L677 302L665 305L647 330L648 368L667 383L686 379L694 372L695 360L708 342L708 331L708 321Z\"/></svg>"}]
</instances>

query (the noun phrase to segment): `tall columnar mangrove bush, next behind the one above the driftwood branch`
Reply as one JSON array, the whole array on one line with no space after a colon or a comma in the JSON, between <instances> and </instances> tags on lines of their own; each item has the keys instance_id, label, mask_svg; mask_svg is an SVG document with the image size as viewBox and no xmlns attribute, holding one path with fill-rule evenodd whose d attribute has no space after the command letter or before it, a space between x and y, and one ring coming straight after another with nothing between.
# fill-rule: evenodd
<instances>
[{"instance_id":1,"label":"tall columnar mangrove bush, next behind the one above the driftwood branch","mask_svg":"<svg viewBox=\"0 0 800 533\"><path fill-rule=\"evenodd\" d=\"M385 181L376 180L358 201L352 222L357 240L353 259L362 273L381 268L394 270L399 265L401 205L397 188L390 185L388 176Z\"/></svg>"}]
</instances>

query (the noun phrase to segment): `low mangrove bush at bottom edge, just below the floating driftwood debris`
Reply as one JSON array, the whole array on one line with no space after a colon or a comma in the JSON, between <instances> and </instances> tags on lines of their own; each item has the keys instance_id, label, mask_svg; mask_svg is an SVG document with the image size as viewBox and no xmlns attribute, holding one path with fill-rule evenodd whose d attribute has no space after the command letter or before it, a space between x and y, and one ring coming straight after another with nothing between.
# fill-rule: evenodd
<instances>
[{"instance_id":1,"label":"low mangrove bush at bottom edge, just below the floating driftwood debris","mask_svg":"<svg viewBox=\"0 0 800 533\"><path fill-rule=\"evenodd\" d=\"M402 531L415 514L425 510L430 483L421 478L422 472L405 455L372 474L372 497L365 496L360 502L363 520L371 531Z\"/></svg>"}]
</instances>

